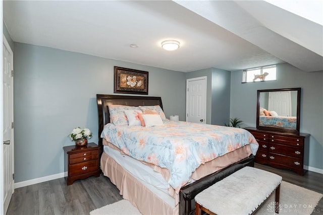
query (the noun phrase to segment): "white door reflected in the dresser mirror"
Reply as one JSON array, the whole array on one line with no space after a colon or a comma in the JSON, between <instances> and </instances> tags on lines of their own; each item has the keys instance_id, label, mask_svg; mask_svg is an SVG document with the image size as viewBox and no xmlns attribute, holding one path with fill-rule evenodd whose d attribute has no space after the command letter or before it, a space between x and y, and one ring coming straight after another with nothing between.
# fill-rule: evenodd
<instances>
[{"instance_id":1,"label":"white door reflected in the dresser mirror","mask_svg":"<svg viewBox=\"0 0 323 215\"><path fill-rule=\"evenodd\" d=\"M291 116L291 92L269 92L268 110L276 111L279 116Z\"/></svg>"}]
</instances>

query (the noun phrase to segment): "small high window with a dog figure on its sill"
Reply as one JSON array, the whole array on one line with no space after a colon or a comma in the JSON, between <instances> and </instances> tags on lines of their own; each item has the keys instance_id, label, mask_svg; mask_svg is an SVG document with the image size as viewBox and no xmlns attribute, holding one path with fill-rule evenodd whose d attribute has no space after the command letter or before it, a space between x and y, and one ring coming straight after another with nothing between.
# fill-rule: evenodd
<instances>
[{"instance_id":1,"label":"small high window with a dog figure on its sill","mask_svg":"<svg viewBox=\"0 0 323 215\"><path fill-rule=\"evenodd\" d=\"M242 83L276 80L276 65L243 70Z\"/></svg>"}]
</instances>

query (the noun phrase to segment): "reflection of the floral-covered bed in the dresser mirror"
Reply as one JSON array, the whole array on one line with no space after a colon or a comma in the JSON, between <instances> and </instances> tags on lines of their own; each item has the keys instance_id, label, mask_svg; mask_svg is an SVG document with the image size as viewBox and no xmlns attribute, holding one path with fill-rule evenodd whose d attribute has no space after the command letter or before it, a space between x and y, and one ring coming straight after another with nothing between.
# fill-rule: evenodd
<instances>
[{"instance_id":1,"label":"reflection of the floral-covered bed in the dresser mirror","mask_svg":"<svg viewBox=\"0 0 323 215\"><path fill-rule=\"evenodd\" d=\"M259 125L296 129L296 116L259 116Z\"/></svg>"}]
</instances>

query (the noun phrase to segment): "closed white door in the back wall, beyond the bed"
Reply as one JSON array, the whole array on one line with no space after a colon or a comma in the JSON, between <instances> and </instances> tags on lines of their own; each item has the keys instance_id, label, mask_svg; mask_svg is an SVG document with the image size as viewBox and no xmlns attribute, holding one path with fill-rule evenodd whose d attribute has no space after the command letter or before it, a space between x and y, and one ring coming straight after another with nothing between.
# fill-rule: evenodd
<instances>
[{"instance_id":1,"label":"closed white door in the back wall, beyond the bed","mask_svg":"<svg viewBox=\"0 0 323 215\"><path fill-rule=\"evenodd\" d=\"M206 123L206 76L186 80L186 121Z\"/></svg>"}]
</instances>

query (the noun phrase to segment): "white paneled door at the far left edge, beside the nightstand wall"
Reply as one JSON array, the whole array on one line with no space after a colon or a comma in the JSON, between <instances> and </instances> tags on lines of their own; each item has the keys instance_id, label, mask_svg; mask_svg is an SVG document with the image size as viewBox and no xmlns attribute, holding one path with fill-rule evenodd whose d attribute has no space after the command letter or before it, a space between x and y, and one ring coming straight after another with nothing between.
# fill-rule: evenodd
<instances>
[{"instance_id":1,"label":"white paneled door at the far left edge, beside the nightstand wall","mask_svg":"<svg viewBox=\"0 0 323 215\"><path fill-rule=\"evenodd\" d=\"M4 214L14 192L14 129L13 129L13 52L3 37L3 111L4 111Z\"/></svg>"}]
</instances>

